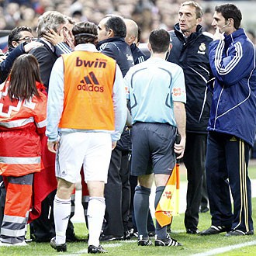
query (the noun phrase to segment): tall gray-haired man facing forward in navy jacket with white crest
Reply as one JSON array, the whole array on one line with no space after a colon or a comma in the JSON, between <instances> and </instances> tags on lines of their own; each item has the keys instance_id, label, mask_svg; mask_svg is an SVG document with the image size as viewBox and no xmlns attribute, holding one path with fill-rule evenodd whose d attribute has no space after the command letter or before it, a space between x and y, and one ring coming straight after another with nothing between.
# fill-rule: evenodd
<instances>
[{"instance_id":1,"label":"tall gray-haired man facing forward in navy jacket with white crest","mask_svg":"<svg viewBox=\"0 0 256 256\"><path fill-rule=\"evenodd\" d=\"M199 206L202 198L202 177L205 173L207 123L212 94L207 88L211 77L208 50L213 40L202 32L202 8L196 2L183 2L178 12L179 22L170 32L172 49L168 61L183 68L187 94L186 144L184 164L188 190L185 210L187 234L198 234Z\"/></svg>"}]
</instances>

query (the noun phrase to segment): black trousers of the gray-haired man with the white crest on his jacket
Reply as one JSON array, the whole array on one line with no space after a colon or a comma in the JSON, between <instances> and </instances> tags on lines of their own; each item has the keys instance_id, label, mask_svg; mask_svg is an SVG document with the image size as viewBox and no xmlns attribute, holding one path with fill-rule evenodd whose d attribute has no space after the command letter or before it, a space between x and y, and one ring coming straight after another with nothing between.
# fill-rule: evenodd
<instances>
[{"instance_id":1,"label":"black trousers of the gray-haired man with the white crest on his jacket","mask_svg":"<svg viewBox=\"0 0 256 256\"><path fill-rule=\"evenodd\" d=\"M187 133L184 164L187 169L188 189L185 228L195 230L199 223L202 199L202 177L205 171L207 134Z\"/></svg>"}]
</instances>

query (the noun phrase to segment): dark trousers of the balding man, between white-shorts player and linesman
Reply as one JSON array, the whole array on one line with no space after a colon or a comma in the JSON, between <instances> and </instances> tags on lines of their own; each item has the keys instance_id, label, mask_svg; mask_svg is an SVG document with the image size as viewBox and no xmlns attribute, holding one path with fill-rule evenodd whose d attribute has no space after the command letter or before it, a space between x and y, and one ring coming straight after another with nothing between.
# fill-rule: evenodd
<instances>
[{"instance_id":1,"label":"dark trousers of the balding man, between white-shorts player and linesman","mask_svg":"<svg viewBox=\"0 0 256 256\"><path fill-rule=\"evenodd\" d=\"M105 185L106 225L103 234L123 236L128 230L130 209L129 151L115 148L109 164L108 183Z\"/></svg>"}]
</instances>

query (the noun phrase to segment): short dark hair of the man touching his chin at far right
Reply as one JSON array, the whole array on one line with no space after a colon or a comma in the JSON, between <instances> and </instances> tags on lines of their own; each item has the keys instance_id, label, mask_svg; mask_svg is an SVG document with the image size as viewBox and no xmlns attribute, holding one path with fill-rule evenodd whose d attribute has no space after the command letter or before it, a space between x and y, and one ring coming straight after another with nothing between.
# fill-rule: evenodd
<instances>
[{"instance_id":1,"label":"short dark hair of the man touching his chin at far right","mask_svg":"<svg viewBox=\"0 0 256 256\"><path fill-rule=\"evenodd\" d=\"M226 20L230 18L234 19L234 28L239 29L240 22L242 20L242 13L240 12L240 9L238 9L236 5L218 5L215 7L215 11L220 12Z\"/></svg>"}]
</instances>

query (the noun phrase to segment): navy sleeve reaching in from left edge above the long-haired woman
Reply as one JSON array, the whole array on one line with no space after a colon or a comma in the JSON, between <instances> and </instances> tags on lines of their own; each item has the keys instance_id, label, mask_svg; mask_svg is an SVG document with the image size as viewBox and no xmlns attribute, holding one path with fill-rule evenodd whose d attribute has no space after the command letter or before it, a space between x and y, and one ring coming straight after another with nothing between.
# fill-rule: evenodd
<instances>
[{"instance_id":1,"label":"navy sleeve reaching in from left edge above the long-haired woman","mask_svg":"<svg viewBox=\"0 0 256 256\"><path fill-rule=\"evenodd\" d=\"M10 51L5 61L2 61L2 63L0 64L2 72L0 83L5 81L5 79L9 75L9 72L11 71L13 62L16 60L17 57L19 57L22 54L25 54L23 43L19 44L18 47Z\"/></svg>"}]
</instances>

